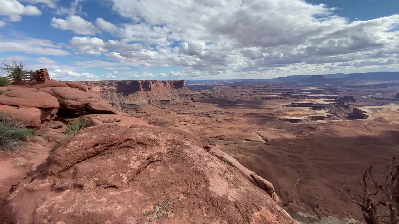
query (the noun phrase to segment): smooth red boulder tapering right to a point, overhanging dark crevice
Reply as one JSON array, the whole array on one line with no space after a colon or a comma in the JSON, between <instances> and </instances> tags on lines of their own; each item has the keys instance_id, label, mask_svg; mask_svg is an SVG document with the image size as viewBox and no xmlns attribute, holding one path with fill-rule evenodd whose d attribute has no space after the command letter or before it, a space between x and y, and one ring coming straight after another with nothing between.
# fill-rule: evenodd
<instances>
[{"instance_id":1,"label":"smooth red boulder tapering right to a point, overhanging dark crevice","mask_svg":"<svg viewBox=\"0 0 399 224\"><path fill-rule=\"evenodd\" d=\"M99 98L94 94L83 92L76 88L70 87L49 87L41 88L58 99L60 109L67 110L69 114L116 114L116 110L112 108L107 101Z\"/></svg>"}]
</instances>

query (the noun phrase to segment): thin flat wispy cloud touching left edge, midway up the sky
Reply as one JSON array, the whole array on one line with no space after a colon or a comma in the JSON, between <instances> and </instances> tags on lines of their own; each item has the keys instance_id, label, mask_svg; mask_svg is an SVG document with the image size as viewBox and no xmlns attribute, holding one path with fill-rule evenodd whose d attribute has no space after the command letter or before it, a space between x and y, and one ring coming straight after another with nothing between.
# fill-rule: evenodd
<instances>
[{"instance_id":1,"label":"thin flat wispy cloud touching left edge, midway up the sky","mask_svg":"<svg viewBox=\"0 0 399 224\"><path fill-rule=\"evenodd\" d=\"M68 55L68 51L46 39L0 39L0 52L25 52L38 55Z\"/></svg>"}]
</instances>

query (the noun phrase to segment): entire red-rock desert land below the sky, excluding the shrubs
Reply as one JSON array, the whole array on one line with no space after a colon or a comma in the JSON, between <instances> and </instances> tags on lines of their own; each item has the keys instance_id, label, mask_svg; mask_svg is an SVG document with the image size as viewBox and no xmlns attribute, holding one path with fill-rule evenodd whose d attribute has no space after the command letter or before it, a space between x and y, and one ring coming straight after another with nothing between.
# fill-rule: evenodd
<instances>
[{"instance_id":1,"label":"entire red-rock desert land below the sky, excluding the shrubs","mask_svg":"<svg viewBox=\"0 0 399 224\"><path fill-rule=\"evenodd\" d=\"M399 82L349 77L4 87L38 135L0 154L0 219L144 223L169 195L162 223L358 223L342 180L398 155ZM75 118L92 127L54 148Z\"/></svg>"}]
</instances>

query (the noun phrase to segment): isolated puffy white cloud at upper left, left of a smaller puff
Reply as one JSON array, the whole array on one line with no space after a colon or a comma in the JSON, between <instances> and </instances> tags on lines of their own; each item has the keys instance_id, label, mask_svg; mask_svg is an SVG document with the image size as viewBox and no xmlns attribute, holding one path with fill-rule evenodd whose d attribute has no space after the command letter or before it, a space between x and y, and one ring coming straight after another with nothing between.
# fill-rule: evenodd
<instances>
[{"instance_id":1,"label":"isolated puffy white cloud at upper left, left of a smaller puff","mask_svg":"<svg viewBox=\"0 0 399 224\"><path fill-rule=\"evenodd\" d=\"M66 20L52 18L51 26L57 29L72 30L77 34L94 35L96 33L101 33L91 22L87 22L80 16L75 15L67 16Z\"/></svg>"}]
</instances>

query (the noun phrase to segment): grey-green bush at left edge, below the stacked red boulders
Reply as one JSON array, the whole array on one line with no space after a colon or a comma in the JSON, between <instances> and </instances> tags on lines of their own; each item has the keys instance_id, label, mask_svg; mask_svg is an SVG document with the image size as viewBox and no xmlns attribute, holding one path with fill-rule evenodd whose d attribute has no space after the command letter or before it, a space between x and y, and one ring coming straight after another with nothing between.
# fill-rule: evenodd
<instances>
[{"instance_id":1,"label":"grey-green bush at left edge, below the stacked red boulders","mask_svg":"<svg viewBox=\"0 0 399 224\"><path fill-rule=\"evenodd\" d=\"M0 116L0 150L16 152L29 136L35 134L34 130L15 125L6 116Z\"/></svg>"}]
</instances>

